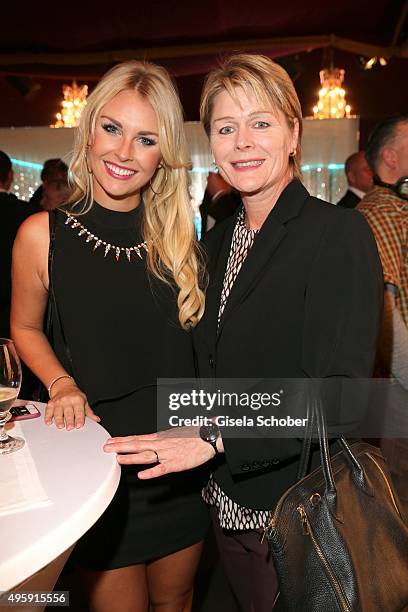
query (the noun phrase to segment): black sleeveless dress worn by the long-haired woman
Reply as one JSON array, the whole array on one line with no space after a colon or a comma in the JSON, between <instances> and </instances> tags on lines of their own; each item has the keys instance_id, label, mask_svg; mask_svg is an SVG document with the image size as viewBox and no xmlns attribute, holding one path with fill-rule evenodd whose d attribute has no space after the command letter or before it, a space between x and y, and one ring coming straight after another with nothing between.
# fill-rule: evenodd
<instances>
[{"instance_id":1,"label":"black sleeveless dress worn by the long-haired woman","mask_svg":"<svg viewBox=\"0 0 408 612\"><path fill-rule=\"evenodd\" d=\"M94 204L77 218L101 240L119 247L143 241L143 204L117 212ZM171 287L152 278L134 252L116 260L58 211L52 282L59 317L54 350L112 436L156 431L156 379L194 377L190 335L177 319ZM57 320L59 318L59 321ZM62 338L65 338L63 341ZM67 357L68 346L70 359ZM74 556L92 569L144 563L203 539L208 512L201 499L203 469L141 481L122 466L119 489Z\"/></svg>"}]
</instances>

